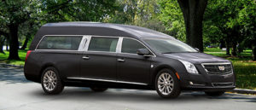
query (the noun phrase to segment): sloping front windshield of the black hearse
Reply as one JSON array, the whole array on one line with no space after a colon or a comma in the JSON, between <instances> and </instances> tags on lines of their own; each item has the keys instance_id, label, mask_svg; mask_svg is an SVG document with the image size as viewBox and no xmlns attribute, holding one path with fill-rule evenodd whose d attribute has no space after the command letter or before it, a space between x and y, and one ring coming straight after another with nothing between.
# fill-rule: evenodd
<instances>
[{"instance_id":1,"label":"sloping front windshield of the black hearse","mask_svg":"<svg viewBox=\"0 0 256 110\"><path fill-rule=\"evenodd\" d=\"M162 54L168 53L180 53L180 52L198 52L197 50L190 47L188 44L183 43L176 39L166 39L166 38L148 38L143 39L149 44L151 48Z\"/></svg>"}]
</instances>

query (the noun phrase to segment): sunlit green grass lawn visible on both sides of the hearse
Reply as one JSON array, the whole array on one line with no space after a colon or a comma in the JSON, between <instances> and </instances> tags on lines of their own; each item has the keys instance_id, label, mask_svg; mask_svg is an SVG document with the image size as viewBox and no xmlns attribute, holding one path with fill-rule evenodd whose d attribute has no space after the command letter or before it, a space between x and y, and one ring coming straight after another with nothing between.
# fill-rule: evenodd
<instances>
[{"instance_id":1,"label":"sunlit green grass lawn visible on both sides of the hearse","mask_svg":"<svg viewBox=\"0 0 256 110\"><path fill-rule=\"evenodd\" d=\"M9 51L5 51L5 55L0 53L0 63L8 63L13 65L24 65L27 50L19 50L20 61L6 60L9 56ZM236 72L237 88L246 88L256 90L256 61L252 61L252 50L243 51L239 57L230 57L225 55L225 51L217 48L207 48L205 53L216 55L232 61L234 71Z\"/></svg>"}]
</instances>

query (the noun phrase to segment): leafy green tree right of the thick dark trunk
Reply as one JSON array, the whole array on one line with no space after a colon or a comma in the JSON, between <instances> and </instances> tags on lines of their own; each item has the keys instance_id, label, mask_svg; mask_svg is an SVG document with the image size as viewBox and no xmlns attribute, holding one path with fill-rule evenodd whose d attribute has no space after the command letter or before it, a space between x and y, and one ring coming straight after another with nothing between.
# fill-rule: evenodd
<instances>
[{"instance_id":1,"label":"leafy green tree right of the thick dark trunk","mask_svg":"<svg viewBox=\"0 0 256 110\"><path fill-rule=\"evenodd\" d=\"M217 27L205 29L226 44L226 54L237 55L237 45L252 45L255 39L255 2L218 0L209 2L205 14L205 26ZM208 35L207 35L208 36ZM211 36L209 36L211 37ZM211 38L212 39L212 38ZM255 42L254 42L255 43ZM247 45L247 47L249 47ZM253 45L251 46L253 47Z\"/></svg>"}]
</instances>

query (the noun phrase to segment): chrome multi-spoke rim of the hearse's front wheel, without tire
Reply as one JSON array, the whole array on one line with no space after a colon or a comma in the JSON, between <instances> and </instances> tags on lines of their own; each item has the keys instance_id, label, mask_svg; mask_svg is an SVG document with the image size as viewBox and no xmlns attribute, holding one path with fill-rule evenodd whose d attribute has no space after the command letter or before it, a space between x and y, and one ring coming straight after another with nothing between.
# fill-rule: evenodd
<instances>
[{"instance_id":1,"label":"chrome multi-spoke rim of the hearse's front wheel, without tire","mask_svg":"<svg viewBox=\"0 0 256 110\"><path fill-rule=\"evenodd\" d=\"M158 78L157 84L158 90L161 92L161 94L169 95L172 93L174 82L171 74L167 72L161 73Z\"/></svg>"}]
</instances>

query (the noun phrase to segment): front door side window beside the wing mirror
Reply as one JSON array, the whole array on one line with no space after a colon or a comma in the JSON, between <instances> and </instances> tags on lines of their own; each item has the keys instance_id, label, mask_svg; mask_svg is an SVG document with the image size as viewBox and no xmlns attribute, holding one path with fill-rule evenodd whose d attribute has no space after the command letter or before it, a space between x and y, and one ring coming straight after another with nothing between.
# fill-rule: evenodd
<instances>
[{"instance_id":1,"label":"front door side window beside the wing mirror","mask_svg":"<svg viewBox=\"0 0 256 110\"><path fill-rule=\"evenodd\" d=\"M146 47L137 40L124 38L122 43L122 53L137 54L137 49L146 49Z\"/></svg>"}]
</instances>

